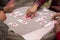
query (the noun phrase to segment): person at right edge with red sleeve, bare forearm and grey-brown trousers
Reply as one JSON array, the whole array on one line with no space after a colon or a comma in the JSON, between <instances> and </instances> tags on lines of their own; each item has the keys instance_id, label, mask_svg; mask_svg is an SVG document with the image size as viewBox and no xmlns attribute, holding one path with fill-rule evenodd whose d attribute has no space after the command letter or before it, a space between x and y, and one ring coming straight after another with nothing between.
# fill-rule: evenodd
<instances>
[{"instance_id":1,"label":"person at right edge with red sleeve, bare forearm and grey-brown trousers","mask_svg":"<svg viewBox=\"0 0 60 40\"><path fill-rule=\"evenodd\" d=\"M60 40L60 13L54 14L52 20L56 21L54 32L45 35L41 40Z\"/></svg>"}]
</instances>

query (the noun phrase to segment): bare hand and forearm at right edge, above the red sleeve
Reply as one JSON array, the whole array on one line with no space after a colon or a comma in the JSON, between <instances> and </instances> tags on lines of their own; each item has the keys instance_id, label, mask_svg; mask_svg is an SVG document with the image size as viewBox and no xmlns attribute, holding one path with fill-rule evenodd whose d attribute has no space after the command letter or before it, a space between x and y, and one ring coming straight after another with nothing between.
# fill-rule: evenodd
<instances>
[{"instance_id":1,"label":"bare hand and forearm at right edge, above the red sleeve","mask_svg":"<svg viewBox=\"0 0 60 40\"><path fill-rule=\"evenodd\" d=\"M58 17L58 18L56 18ZM56 19L55 19L56 18ZM56 13L53 15L52 20L55 20L55 31L56 33L60 31L60 13Z\"/></svg>"}]
</instances>

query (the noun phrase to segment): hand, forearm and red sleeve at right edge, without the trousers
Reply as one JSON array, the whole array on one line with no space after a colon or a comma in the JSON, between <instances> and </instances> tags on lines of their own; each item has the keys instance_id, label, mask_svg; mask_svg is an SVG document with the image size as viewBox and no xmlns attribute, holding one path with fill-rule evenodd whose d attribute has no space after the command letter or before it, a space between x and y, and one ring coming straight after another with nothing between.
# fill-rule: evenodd
<instances>
[{"instance_id":1,"label":"hand, forearm and red sleeve at right edge, without the trousers","mask_svg":"<svg viewBox=\"0 0 60 40\"><path fill-rule=\"evenodd\" d=\"M55 38L56 40L60 40L60 13L54 14L52 20L56 20L55 23Z\"/></svg>"}]
</instances>

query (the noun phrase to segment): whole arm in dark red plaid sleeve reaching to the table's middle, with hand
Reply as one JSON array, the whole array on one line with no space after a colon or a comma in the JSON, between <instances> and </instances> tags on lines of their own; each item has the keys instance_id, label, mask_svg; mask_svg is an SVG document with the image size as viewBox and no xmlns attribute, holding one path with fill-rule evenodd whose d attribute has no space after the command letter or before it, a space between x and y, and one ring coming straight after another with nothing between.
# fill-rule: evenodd
<instances>
[{"instance_id":1,"label":"whole arm in dark red plaid sleeve reaching to the table's middle, with hand","mask_svg":"<svg viewBox=\"0 0 60 40\"><path fill-rule=\"evenodd\" d=\"M28 9L26 12L26 17L29 18L33 18L36 15L36 11L37 9L39 9L39 7L41 5L43 5L45 2L47 2L48 0L35 0L34 1L34 5L32 6L32 8Z\"/></svg>"}]
</instances>

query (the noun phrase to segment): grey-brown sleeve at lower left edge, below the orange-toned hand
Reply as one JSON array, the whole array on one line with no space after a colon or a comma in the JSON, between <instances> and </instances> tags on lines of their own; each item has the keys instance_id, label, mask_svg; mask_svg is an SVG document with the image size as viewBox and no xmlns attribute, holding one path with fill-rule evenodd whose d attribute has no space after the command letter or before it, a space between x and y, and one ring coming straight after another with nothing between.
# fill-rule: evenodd
<instances>
[{"instance_id":1,"label":"grey-brown sleeve at lower left edge, below the orange-toned hand","mask_svg":"<svg viewBox=\"0 0 60 40\"><path fill-rule=\"evenodd\" d=\"M8 35L8 26L0 21L0 40L6 40Z\"/></svg>"}]
</instances>

